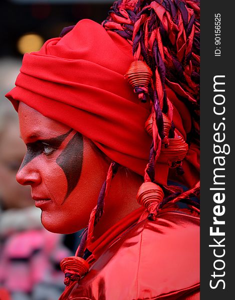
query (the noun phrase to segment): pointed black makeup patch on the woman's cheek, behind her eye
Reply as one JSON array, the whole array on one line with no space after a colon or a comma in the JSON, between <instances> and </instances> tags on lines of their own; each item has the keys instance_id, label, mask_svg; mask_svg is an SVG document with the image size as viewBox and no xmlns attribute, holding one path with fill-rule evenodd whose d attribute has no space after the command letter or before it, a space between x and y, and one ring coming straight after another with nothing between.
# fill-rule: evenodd
<instances>
[{"instance_id":1,"label":"pointed black makeup patch on the woman's cheek, behind her eye","mask_svg":"<svg viewBox=\"0 0 235 300\"><path fill-rule=\"evenodd\" d=\"M64 171L68 183L65 201L76 187L82 171L83 136L81 133L75 133L66 148L57 157L56 162Z\"/></svg>"}]
</instances>

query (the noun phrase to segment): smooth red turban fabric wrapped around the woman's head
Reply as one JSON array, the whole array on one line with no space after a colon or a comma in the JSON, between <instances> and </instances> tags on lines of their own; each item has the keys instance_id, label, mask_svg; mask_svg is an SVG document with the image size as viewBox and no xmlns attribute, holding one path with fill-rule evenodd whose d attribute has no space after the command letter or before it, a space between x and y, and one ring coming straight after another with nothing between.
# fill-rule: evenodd
<instances>
[{"instance_id":1,"label":"smooth red turban fabric wrapped around the woman's head","mask_svg":"<svg viewBox=\"0 0 235 300\"><path fill-rule=\"evenodd\" d=\"M111 159L143 175L152 141L144 128L150 105L140 102L124 78L133 60L124 38L84 19L65 36L48 40L40 51L25 54L16 87L6 96L16 110L22 101L71 126ZM189 111L172 91L169 99L177 132L186 138ZM184 159L188 185L198 180L197 154L189 148ZM157 163L156 181L166 184L167 175L168 165Z\"/></svg>"}]
</instances>

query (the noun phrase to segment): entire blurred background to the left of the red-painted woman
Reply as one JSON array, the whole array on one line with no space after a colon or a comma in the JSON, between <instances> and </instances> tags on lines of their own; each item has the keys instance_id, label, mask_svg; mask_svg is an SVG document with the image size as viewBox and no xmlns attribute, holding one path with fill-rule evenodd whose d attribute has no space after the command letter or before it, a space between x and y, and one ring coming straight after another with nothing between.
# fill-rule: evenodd
<instances>
[{"instance_id":1,"label":"entire blurred background to the left of the red-painted woman","mask_svg":"<svg viewBox=\"0 0 235 300\"><path fill-rule=\"evenodd\" d=\"M5 93L15 83L24 53L82 18L102 22L110 0L0 1L0 300L57 300L64 290L60 260L73 254L81 232L61 235L41 224L29 186L16 181L25 145Z\"/></svg>"}]
</instances>

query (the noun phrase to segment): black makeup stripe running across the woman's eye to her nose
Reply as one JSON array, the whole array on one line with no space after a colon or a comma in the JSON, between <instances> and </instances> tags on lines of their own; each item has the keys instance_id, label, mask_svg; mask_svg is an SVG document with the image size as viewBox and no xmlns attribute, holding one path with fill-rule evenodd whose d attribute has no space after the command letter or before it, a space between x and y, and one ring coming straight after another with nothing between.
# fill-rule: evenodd
<instances>
[{"instance_id":1,"label":"black makeup stripe running across the woman's eye to her nose","mask_svg":"<svg viewBox=\"0 0 235 300\"><path fill-rule=\"evenodd\" d=\"M27 146L27 152L25 154L24 160L21 164L21 167L19 170L21 170L27 163L29 163L32 159L37 157L38 155L42 154L44 151L44 145L43 142L48 143L49 145L52 145L54 147L59 147L62 142L65 140L65 138L72 132L73 129L71 128L68 132L52 137L49 139L40 139L34 142L29 142L26 144Z\"/></svg>"}]
</instances>

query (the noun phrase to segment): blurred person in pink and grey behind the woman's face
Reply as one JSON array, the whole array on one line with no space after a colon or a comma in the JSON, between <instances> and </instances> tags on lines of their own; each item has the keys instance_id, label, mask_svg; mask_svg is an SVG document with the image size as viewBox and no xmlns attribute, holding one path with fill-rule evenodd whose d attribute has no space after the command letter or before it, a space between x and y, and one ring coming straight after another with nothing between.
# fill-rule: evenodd
<instances>
[{"instance_id":1,"label":"blurred person in pink and grey behind the woman's face","mask_svg":"<svg viewBox=\"0 0 235 300\"><path fill-rule=\"evenodd\" d=\"M3 97L19 62L5 58L0 65ZM59 263L70 252L62 243L63 235L42 226L40 209L34 206L29 186L16 181L25 153L18 127L17 113L1 101L0 290L8 291L13 300L57 300L64 288Z\"/></svg>"}]
</instances>

